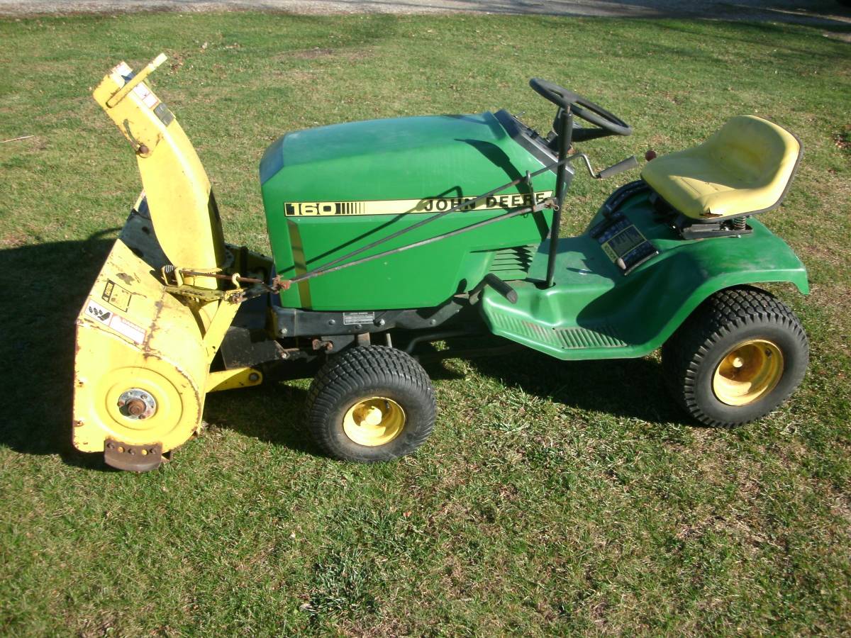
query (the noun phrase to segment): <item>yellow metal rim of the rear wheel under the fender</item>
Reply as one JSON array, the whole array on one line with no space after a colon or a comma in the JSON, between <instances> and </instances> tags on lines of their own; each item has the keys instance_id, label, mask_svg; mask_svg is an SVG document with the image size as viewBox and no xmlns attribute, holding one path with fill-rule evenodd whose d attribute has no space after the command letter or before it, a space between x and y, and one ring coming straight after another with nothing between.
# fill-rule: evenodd
<instances>
[{"instance_id":1,"label":"yellow metal rim of the rear wheel under the fender","mask_svg":"<svg viewBox=\"0 0 851 638\"><path fill-rule=\"evenodd\" d=\"M774 390L783 376L783 353L766 339L734 346L715 368L712 390L728 406L746 406Z\"/></svg>"}]
</instances>

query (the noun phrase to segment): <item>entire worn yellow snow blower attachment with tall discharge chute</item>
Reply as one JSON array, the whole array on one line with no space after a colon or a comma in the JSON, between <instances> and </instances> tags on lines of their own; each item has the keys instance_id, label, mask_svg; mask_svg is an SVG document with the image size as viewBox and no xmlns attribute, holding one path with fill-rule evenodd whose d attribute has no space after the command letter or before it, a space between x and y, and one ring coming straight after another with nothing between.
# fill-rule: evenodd
<instances>
[{"instance_id":1,"label":"entire worn yellow snow blower attachment with tall discharge chute","mask_svg":"<svg viewBox=\"0 0 851 638\"><path fill-rule=\"evenodd\" d=\"M168 107L122 62L94 100L133 146L144 190L77 318L73 441L122 470L151 470L200 427L210 390L257 385L259 370L210 373L245 299L243 272L271 270L226 246L210 183ZM237 263L235 263L237 262Z\"/></svg>"}]
</instances>

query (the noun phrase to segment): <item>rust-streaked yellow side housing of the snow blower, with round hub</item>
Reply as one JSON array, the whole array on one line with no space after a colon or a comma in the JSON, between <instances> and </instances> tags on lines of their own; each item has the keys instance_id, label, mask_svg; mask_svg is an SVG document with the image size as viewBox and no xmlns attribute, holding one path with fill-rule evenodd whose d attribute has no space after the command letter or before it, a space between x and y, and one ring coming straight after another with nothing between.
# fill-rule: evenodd
<instances>
[{"instance_id":1,"label":"rust-streaked yellow side housing of the snow blower, with round hub","mask_svg":"<svg viewBox=\"0 0 851 638\"><path fill-rule=\"evenodd\" d=\"M117 240L77 318L72 436L83 452L103 451L107 438L167 451L200 423L203 334L155 272ZM134 399L146 404L140 414L126 405Z\"/></svg>"}]
</instances>

